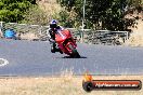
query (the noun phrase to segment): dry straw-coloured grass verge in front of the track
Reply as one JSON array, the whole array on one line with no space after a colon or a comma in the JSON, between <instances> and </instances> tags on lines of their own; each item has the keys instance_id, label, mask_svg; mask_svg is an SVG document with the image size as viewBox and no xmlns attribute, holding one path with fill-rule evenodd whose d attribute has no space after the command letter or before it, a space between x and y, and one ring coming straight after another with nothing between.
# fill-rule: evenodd
<instances>
[{"instance_id":1,"label":"dry straw-coloured grass verge in front of the track","mask_svg":"<svg viewBox=\"0 0 143 95\"><path fill-rule=\"evenodd\" d=\"M0 95L143 95L140 91L82 90L83 77L0 78ZM94 76L94 80L141 80L143 76Z\"/></svg>"}]
</instances>

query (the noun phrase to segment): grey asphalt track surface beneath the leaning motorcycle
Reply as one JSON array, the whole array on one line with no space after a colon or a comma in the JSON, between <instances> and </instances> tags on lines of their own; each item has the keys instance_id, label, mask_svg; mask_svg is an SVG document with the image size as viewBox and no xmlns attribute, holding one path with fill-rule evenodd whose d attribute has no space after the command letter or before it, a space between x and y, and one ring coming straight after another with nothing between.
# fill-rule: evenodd
<instances>
[{"instance_id":1,"label":"grey asphalt track surface beneath the leaning motorcycle","mask_svg":"<svg viewBox=\"0 0 143 95\"><path fill-rule=\"evenodd\" d=\"M49 42L0 40L0 76L56 76L66 71L83 74L143 74L143 48L78 43L81 58L51 53Z\"/></svg>"}]
</instances>

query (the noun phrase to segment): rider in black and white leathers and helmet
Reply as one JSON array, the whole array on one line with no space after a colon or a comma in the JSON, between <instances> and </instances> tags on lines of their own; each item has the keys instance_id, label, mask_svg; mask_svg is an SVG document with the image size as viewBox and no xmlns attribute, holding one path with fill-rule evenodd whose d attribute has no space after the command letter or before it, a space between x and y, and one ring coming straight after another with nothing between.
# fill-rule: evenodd
<instances>
[{"instance_id":1,"label":"rider in black and white leathers and helmet","mask_svg":"<svg viewBox=\"0 0 143 95\"><path fill-rule=\"evenodd\" d=\"M55 52L60 52L61 54L63 54L63 52L56 46L56 41L55 41L55 33L61 32L64 28L57 25L57 21L56 19L52 19L50 22L50 28L49 28L49 35L50 35L50 39L49 41L52 43L52 48L51 48L51 52L55 53Z\"/></svg>"}]
</instances>

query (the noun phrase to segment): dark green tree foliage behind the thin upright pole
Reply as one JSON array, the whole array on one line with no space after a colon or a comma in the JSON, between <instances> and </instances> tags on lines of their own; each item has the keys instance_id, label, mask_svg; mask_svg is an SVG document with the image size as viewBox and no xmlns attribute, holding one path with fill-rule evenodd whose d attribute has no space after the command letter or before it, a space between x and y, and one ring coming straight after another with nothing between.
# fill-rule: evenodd
<instances>
[{"instance_id":1,"label":"dark green tree foliage behind the thin upright pole","mask_svg":"<svg viewBox=\"0 0 143 95\"><path fill-rule=\"evenodd\" d=\"M136 0L135 2L138 3ZM78 15L76 22L82 21L83 0L57 0L70 12L75 11ZM86 18L84 28L126 30L127 22L123 19L126 10L129 5L133 5L133 0L86 0Z\"/></svg>"}]
</instances>

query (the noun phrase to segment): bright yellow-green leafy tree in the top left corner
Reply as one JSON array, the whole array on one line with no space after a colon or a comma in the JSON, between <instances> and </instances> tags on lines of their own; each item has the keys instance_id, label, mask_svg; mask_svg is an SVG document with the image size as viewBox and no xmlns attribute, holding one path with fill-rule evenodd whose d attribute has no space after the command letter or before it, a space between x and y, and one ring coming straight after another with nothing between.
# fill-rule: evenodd
<instances>
[{"instance_id":1,"label":"bright yellow-green leafy tree in the top left corner","mask_svg":"<svg viewBox=\"0 0 143 95\"><path fill-rule=\"evenodd\" d=\"M35 0L0 0L0 21L20 22Z\"/></svg>"}]
</instances>

